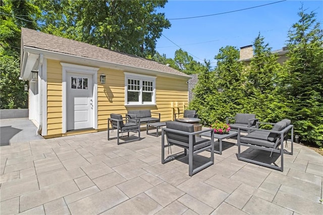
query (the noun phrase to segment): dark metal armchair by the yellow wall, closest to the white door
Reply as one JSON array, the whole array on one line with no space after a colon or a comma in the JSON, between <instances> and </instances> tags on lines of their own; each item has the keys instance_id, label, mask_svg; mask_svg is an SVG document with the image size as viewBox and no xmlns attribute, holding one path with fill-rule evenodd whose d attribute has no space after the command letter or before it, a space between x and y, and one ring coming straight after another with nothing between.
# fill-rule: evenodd
<instances>
[{"instance_id":1,"label":"dark metal armchair by the yellow wall, closest to the white door","mask_svg":"<svg viewBox=\"0 0 323 215\"><path fill-rule=\"evenodd\" d=\"M111 124L111 128L110 128ZM120 114L111 114L110 118L107 119L107 140L115 139L115 138L110 138L110 130L117 130L117 144L120 144L120 133L128 133L129 137L129 132L138 132L138 138L137 139L132 139L128 141L124 141L123 143L126 142L132 142L135 140L140 140L140 118L138 119L131 119L131 122L129 122L129 119L123 118Z\"/></svg>"}]
</instances>

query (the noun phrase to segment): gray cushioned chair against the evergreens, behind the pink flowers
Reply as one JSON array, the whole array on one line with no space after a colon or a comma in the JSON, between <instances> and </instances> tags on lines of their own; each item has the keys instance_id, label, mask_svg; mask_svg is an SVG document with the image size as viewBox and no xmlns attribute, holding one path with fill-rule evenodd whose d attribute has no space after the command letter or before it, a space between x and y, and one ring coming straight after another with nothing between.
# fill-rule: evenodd
<instances>
[{"instance_id":1,"label":"gray cushioned chair against the evergreens, behind the pink flowers","mask_svg":"<svg viewBox=\"0 0 323 215\"><path fill-rule=\"evenodd\" d=\"M230 120L234 119L234 123L230 123ZM256 118L255 114L236 114L235 117L227 117L226 119L227 124L230 124L230 128L232 131L240 130L247 131L249 133L248 128L254 128L258 119Z\"/></svg>"}]
</instances>

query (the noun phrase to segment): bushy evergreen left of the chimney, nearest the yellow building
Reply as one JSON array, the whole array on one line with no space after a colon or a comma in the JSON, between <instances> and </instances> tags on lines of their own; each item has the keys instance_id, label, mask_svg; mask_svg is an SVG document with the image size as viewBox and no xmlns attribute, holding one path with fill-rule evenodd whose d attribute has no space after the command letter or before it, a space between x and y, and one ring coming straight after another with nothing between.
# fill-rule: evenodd
<instances>
[{"instance_id":1,"label":"bushy evergreen left of the chimney, nearest the yellow building","mask_svg":"<svg viewBox=\"0 0 323 215\"><path fill-rule=\"evenodd\" d=\"M198 84L190 108L198 111L206 125L216 120L225 120L237 110L241 110L243 96L243 65L239 62L239 51L233 46L222 47L213 72L199 73Z\"/></svg>"}]
</instances>

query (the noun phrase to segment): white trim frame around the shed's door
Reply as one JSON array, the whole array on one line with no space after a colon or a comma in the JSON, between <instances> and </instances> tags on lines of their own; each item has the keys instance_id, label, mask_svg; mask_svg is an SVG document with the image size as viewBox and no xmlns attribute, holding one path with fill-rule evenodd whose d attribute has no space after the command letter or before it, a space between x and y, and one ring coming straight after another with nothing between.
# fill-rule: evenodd
<instances>
[{"instance_id":1,"label":"white trim frame around the shed's door","mask_svg":"<svg viewBox=\"0 0 323 215\"><path fill-rule=\"evenodd\" d=\"M86 66L80 66L80 65L75 65L75 64L67 64L67 63L61 63L62 65L62 88L63 88L63 110L62 110L62 132L65 134L67 132L67 117L66 117L66 112L67 112L67 89L66 89L66 79L67 79L67 72L74 72L74 73L83 73L87 75L92 75L93 76L93 128L97 129L97 71L99 68L95 67L86 67Z\"/></svg>"}]
</instances>

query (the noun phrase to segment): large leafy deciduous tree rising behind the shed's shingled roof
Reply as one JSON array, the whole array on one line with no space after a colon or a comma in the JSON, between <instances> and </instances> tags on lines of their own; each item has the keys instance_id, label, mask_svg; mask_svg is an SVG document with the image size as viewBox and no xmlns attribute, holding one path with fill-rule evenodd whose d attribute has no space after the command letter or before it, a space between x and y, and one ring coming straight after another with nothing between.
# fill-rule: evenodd
<instances>
[{"instance_id":1,"label":"large leafy deciduous tree rising behind the shed's shingled roof","mask_svg":"<svg viewBox=\"0 0 323 215\"><path fill-rule=\"evenodd\" d=\"M136 56L155 53L156 39L171 23L156 13L167 1L36 1L42 31Z\"/></svg>"}]
</instances>

